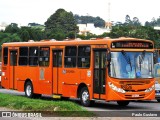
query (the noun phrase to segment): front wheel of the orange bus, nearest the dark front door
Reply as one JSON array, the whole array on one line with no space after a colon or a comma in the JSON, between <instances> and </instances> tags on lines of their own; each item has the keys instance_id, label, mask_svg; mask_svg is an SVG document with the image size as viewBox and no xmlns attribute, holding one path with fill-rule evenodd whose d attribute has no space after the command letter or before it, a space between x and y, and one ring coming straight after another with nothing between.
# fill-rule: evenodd
<instances>
[{"instance_id":1,"label":"front wheel of the orange bus, nearest the dark front door","mask_svg":"<svg viewBox=\"0 0 160 120\"><path fill-rule=\"evenodd\" d=\"M82 88L80 93L81 104L85 107L90 106L91 101L89 100L89 91L87 87Z\"/></svg>"}]
</instances>

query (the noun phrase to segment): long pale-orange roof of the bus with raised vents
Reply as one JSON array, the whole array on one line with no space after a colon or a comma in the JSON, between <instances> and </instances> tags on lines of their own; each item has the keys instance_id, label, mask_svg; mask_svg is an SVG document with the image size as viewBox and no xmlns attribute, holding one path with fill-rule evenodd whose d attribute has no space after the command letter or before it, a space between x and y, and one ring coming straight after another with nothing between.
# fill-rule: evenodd
<instances>
[{"instance_id":1,"label":"long pale-orange roof of the bus with raised vents","mask_svg":"<svg viewBox=\"0 0 160 120\"><path fill-rule=\"evenodd\" d=\"M96 44L110 44L113 41L147 41L151 42L152 44L153 41L151 40L145 40L145 39L139 39L139 38L126 38L126 37L120 37L120 38L103 38L103 39L96 39L96 40L79 40L79 39L74 39L74 40L64 40L64 41L56 41L56 40L41 40L41 41L29 41L29 42L10 42L10 43L3 43L2 47L20 47L20 46L52 46L52 45L96 45Z\"/></svg>"}]
</instances>

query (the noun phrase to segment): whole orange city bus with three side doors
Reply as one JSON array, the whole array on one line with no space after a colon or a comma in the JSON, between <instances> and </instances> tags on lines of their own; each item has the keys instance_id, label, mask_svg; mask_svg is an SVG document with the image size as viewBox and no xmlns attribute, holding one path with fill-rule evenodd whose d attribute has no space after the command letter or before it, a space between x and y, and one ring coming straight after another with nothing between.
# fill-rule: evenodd
<instances>
[{"instance_id":1,"label":"whole orange city bus with three side doors","mask_svg":"<svg viewBox=\"0 0 160 120\"><path fill-rule=\"evenodd\" d=\"M96 100L155 99L154 43L138 38L41 40L2 45L2 87L29 98Z\"/></svg>"}]
</instances>

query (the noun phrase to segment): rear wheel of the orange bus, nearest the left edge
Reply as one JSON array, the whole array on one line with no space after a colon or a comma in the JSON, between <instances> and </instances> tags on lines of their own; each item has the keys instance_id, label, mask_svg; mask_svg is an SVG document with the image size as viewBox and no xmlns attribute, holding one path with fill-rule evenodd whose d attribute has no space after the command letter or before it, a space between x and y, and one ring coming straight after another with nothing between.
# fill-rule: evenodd
<instances>
[{"instance_id":1,"label":"rear wheel of the orange bus, nearest the left edge","mask_svg":"<svg viewBox=\"0 0 160 120\"><path fill-rule=\"evenodd\" d=\"M31 82L27 82L25 85L25 96L29 98L33 98L33 86Z\"/></svg>"}]
</instances>

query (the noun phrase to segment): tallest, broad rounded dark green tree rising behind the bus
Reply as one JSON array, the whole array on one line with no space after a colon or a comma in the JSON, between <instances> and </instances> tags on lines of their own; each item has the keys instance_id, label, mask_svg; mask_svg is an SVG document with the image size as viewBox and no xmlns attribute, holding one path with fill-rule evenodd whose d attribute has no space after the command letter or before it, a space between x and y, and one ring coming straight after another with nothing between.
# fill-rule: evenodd
<instances>
[{"instance_id":1,"label":"tallest, broad rounded dark green tree rising behind the bus","mask_svg":"<svg viewBox=\"0 0 160 120\"><path fill-rule=\"evenodd\" d=\"M45 22L45 26L48 38L52 38L56 36L56 34L64 34L64 36L67 36L70 32L78 32L73 13L67 12L64 9L58 9L52 14Z\"/></svg>"}]
</instances>

